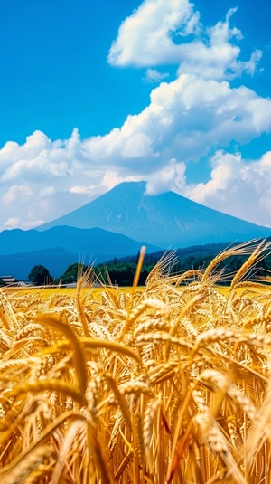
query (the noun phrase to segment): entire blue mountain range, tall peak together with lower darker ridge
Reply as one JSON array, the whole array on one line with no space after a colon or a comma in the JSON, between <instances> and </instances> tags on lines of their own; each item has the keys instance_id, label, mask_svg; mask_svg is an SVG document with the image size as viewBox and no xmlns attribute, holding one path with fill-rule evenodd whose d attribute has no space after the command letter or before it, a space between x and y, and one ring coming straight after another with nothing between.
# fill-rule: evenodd
<instances>
[{"instance_id":1,"label":"entire blue mountain range, tall peak together with lower darker ridge","mask_svg":"<svg viewBox=\"0 0 271 484\"><path fill-rule=\"evenodd\" d=\"M221 214L173 192L145 195L145 182L123 183L34 230L1 232L0 275L27 279L33 265L42 264L60 277L78 261L98 264L136 257L142 245L147 254L186 248L186 255L190 247L194 253L195 246L201 246L202 256L202 246L208 244L268 236L271 228Z\"/></svg>"}]
</instances>

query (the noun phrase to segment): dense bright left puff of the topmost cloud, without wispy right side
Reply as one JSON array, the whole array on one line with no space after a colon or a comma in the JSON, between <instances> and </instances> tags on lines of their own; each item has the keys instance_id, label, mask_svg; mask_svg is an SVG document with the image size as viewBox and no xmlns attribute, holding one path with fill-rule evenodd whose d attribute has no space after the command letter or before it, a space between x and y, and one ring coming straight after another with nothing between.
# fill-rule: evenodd
<instances>
[{"instance_id":1,"label":"dense bright left puff of the topmost cloud, without wispy right side","mask_svg":"<svg viewBox=\"0 0 271 484\"><path fill-rule=\"evenodd\" d=\"M112 65L154 66L176 62L179 47L170 33L176 33L192 21L192 4L187 0L145 0L120 25L117 40L112 44L108 62Z\"/></svg>"}]
</instances>

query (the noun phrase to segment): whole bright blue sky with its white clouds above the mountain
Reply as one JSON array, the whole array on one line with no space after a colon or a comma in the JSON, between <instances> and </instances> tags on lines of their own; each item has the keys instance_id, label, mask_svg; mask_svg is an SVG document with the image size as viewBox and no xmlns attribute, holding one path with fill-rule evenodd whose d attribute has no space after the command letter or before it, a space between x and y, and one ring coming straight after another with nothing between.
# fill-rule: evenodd
<instances>
[{"instance_id":1,"label":"whole bright blue sky with its white clouds above the mountain","mask_svg":"<svg viewBox=\"0 0 271 484\"><path fill-rule=\"evenodd\" d=\"M140 179L271 226L270 19L267 0L3 0L0 230Z\"/></svg>"}]
</instances>

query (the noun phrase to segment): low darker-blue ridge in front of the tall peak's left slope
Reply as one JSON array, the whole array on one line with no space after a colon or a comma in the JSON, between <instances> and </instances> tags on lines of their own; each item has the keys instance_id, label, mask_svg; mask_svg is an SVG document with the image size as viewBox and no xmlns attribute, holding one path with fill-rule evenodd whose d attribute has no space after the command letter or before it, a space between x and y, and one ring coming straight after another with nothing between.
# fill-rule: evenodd
<instances>
[{"instance_id":1,"label":"low darker-blue ridge in front of the tall peak's left slope","mask_svg":"<svg viewBox=\"0 0 271 484\"><path fill-rule=\"evenodd\" d=\"M60 277L72 263L97 264L114 257L136 255L142 245L147 245L148 252L160 250L98 228L57 226L44 232L4 231L0 233L0 275L12 274L16 279L25 280L33 265L42 264L53 277Z\"/></svg>"}]
</instances>

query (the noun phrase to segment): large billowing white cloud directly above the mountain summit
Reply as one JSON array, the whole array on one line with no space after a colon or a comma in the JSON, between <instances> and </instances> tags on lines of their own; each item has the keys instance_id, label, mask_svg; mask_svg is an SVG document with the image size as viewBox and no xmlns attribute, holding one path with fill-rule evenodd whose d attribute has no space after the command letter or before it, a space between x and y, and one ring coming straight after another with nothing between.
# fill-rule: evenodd
<instances>
[{"instance_id":1,"label":"large billowing white cloud directly above the mountain summit","mask_svg":"<svg viewBox=\"0 0 271 484\"><path fill-rule=\"evenodd\" d=\"M171 158L199 159L232 139L245 142L271 130L271 100L228 81L182 74L152 90L140 114L121 128L83 142L89 159L146 174Z\"/></svg>"}]
</instances>

